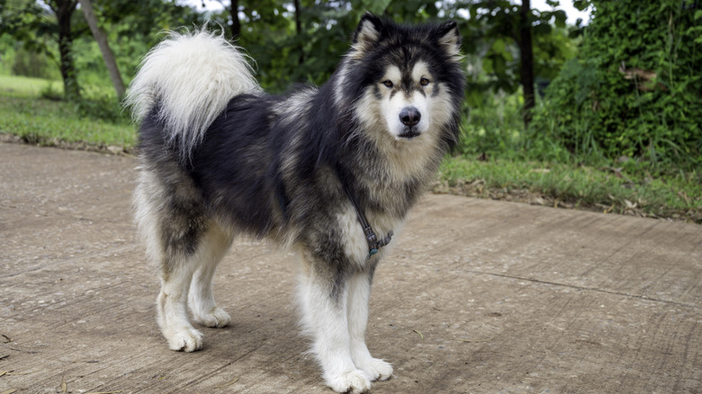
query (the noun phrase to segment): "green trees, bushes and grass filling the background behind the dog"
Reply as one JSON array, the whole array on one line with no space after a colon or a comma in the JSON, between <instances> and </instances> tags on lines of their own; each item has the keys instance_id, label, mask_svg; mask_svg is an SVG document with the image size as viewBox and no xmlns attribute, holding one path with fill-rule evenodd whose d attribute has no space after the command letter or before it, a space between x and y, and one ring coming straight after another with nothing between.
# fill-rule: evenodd
<instances>
[{"instance_id":1,"label":"green trees, bushes and grass filling the background behind the dog","mask_svg":"<svg viewBox=\"0 0 702 394\"><path fill-rule=\"evenodd\" d=\"M323 83L365 10L454 19L464 36L464 139L435 190L702 223L702 8L689 0L93 0L129 83L160 31L223 29L269 91ZM84 4L85 0L81 0ZM77 0L0 0L0 133L130 152L103 52ZM529 61L531 59L531 61Z\"/></svg>"}]
</instances>

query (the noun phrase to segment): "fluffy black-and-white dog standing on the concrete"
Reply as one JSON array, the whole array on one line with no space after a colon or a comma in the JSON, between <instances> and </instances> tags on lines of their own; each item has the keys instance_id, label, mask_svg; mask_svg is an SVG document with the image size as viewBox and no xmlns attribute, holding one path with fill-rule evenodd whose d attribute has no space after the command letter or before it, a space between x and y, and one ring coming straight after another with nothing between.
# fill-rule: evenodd
<instances>
[{"instance_id":1,"label":"fluffy black-and-white dog standing on the concrete","mask_svg":"<svg viewBox=\"0 0 702 394\"><path fill-rule=\"evenodd\" d=\"M322 377L363 392L392 376L365 345L378 262L460 136L465 77L455 22L366 13L320 87L266 94L221 35L171 32L126 103L139 122L135 217L159 267L157 323L175 351L229 325L212 275L234 237L301 257L303 331Z\"/></svg>"}]
</instances>

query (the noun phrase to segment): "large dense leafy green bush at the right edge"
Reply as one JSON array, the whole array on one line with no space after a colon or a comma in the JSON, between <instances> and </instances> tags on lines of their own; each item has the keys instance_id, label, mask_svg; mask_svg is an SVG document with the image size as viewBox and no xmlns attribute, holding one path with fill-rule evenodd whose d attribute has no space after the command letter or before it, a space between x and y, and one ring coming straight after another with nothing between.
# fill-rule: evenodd
<instances>
[{"instance_id":1,"label":"large dense leafy green bush at the right edge","mask_svg":"<svg viewBox=\"0 0 702 394\"><path fill-rule=\"evenodd\" d=\"M530 132L576 155L702 164L702 10L680 0L593 1L578 58L566 63Z\"/></svg>"}]
</instances>

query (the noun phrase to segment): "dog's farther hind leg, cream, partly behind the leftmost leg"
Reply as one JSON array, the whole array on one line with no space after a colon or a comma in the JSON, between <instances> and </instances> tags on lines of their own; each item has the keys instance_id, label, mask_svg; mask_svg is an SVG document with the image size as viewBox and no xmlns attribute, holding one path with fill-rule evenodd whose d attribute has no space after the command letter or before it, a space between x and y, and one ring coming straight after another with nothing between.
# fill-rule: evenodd
<instances>
[{"instance_id":1,"label":"dog's farther hind leg, cream, partly behind the leftmost leg","mask_svg":"<svg viewBox=\"0 0 702 394\"><path fill-rule=\"evenodd\" d=\"M217 306L212 293L212 276L229 246L231 236L216 225L202 237L198 256L200 264L193 274L188 296L193 318L202 326L225 327L231 321L229 314Z\"/></svg>"}]
</instances>

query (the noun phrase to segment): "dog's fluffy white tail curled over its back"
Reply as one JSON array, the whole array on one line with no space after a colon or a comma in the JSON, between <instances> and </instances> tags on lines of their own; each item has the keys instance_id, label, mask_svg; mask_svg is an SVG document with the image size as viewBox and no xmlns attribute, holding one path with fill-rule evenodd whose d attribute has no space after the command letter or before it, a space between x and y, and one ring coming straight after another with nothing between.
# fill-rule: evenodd
<instances>
[{"instance_id":1,"label":"dog's fluffy white tail curled over its back","mask_svg":"<svg viewBox=\"0 0 702 394\"><path fill-rule=\"evenodd\" d=\"M125 104L137 122L157 106L166 144L177 144L174 148L184 159L232 97L259 91L247 56L222 35L203 28L170 32L151 49L131 81Z\"/></svg>"}]
</instances>

